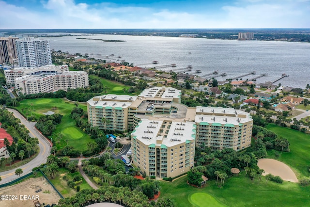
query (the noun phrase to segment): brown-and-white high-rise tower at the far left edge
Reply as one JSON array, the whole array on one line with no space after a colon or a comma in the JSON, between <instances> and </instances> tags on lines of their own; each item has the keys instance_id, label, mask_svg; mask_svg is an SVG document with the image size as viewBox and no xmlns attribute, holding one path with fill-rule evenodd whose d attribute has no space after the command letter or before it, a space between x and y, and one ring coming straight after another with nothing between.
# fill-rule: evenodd
<instances>
[{"instance_id":1,"label":"brown-and-white high-rise tower at the far left edge","mask_svg":"<svg viewBox=\"0 0 310 207\"><path fill-rule=\"evenodd\" d=\"M18 37L0 37L0 64L14 64L17 59L16 39Z\"/></svg>"}]
</instances>

